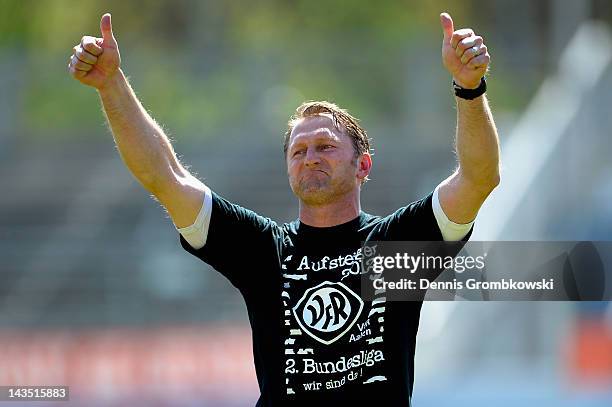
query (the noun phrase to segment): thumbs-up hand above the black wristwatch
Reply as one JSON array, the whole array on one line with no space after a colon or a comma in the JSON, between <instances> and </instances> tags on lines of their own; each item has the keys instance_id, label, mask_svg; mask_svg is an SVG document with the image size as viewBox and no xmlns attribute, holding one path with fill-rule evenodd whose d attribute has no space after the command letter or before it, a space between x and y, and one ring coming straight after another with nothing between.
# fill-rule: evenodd
<instances>
[{"instance_id":1,"label":"thumbs-up hand above the black wristwatch","mask_svg":"<svg viewBox=\"0 0 612 407\"><path fill-rule=\"evenodd\" d=\"M453 19L447 13L440 14L444 39L442 40L442 62L455 82L466 89L475 89L487 72L491 56L482 37L471 28L455 31Z\"/></svg>"}]
</instances>

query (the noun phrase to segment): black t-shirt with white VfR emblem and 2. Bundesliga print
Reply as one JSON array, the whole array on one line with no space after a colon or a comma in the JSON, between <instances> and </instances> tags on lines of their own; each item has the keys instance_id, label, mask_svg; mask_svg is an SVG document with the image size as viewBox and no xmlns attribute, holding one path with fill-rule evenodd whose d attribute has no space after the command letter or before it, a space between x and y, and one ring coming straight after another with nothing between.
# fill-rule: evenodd
<instances>
[{"instance_id":1,"label":"black t-shirt with white VfR emblem and 2. Bundesliga print","mask_svg":"<svg viewBox=\"0 0 612 407\"><path fill-rule=\"evenodd\" d=\"M206 245L181 244L244 297L257 406L410 405L422 303L363 301L361 247L442 240L432 195L386 217L361 212L318 228L278 225L213 193Z\"/></svg>"}]
</instances>

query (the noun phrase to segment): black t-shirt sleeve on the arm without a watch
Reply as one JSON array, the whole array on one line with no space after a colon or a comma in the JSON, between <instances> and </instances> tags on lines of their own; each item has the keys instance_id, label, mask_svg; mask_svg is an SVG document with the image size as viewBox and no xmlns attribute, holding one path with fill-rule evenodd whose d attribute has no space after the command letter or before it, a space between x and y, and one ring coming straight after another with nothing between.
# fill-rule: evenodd
<instances>
[{"instance_id":1,"label":"black t-shirt sleeve on the arm without a watch","mask_svg":"<svg viewBox=\"0 0 612 407\"><path fill-rule=\"evenodd\" d=\"M273 267L278 258L280 229L269 218L233 204L215 192L211 198L204 246L196 249L179 234L181 245L243 290L256 276Z\"/></svg>"}]
</instances>

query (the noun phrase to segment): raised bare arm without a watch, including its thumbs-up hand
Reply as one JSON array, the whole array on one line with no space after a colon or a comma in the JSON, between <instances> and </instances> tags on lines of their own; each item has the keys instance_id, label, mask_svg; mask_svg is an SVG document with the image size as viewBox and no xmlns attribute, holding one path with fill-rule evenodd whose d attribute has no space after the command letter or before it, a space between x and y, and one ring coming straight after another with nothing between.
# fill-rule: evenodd
<instances>
[{"instance_id":1,"label":"raised bare arm without a watch, including its thumbs-up hand","mask_svg":"<svg viewBox=\"0 0 612 407\"><path fill-rule=\"evenodd\" d=\"M202 206L204 185L178 161L168 137L142 107L120 69L110 14L102 38L85 36L68 64L79 82L98 90L121 158L136 179L166 207L177 227L189 226Z\"/></svg>"}]
</instances>

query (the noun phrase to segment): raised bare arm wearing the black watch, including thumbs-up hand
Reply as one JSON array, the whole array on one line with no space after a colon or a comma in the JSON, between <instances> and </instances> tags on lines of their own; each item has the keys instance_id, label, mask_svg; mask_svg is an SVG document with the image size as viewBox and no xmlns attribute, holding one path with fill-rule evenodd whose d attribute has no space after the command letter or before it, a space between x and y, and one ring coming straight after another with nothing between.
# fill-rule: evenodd
<instances>
[{"instance_id":1,"label":"raised bare arm wearing the black watch, including thumbs-up hand","mask_svg":"<svg viewBox=\"0 0 612 407\"><path fill-rule=\"evenodd\" d=\"M490 56L482 37L470 28L455 31L451 17L440 15L444 39L442 60L457 85L476 89L487 71ZM455 223L474 220L483 202L499 184L499 139L486 96L457 103L457 170L439 189L440 205Z\"/></svg>"}]
</instances>

